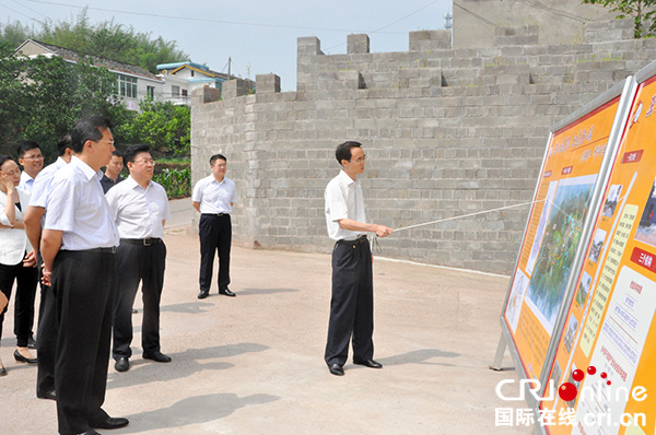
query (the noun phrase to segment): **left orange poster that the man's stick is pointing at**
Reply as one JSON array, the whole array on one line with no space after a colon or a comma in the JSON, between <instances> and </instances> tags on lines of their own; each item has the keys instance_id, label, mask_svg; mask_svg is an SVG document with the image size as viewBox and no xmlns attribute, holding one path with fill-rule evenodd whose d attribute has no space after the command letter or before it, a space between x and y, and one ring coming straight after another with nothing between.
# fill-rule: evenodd
<instances>
[{"instance_id":1,"label":"left orange poster that the man's stick is pointing at","mask_svg":"<svg viewBox=\"0 0 656 435\"><path fill-rule=\"evenodd\" d=\"M619 102L607 101L549 141L503 313L526 378L540 377Z\"/></svg>"}]
</instances>

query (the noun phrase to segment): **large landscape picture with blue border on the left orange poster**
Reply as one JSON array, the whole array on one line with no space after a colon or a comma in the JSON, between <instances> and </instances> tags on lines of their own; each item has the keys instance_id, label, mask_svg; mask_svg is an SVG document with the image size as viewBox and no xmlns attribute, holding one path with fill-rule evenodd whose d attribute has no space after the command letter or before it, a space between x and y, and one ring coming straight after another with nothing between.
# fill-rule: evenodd
<instances>
[{"instance_id":1,"label":"large landscape picture with blue border on the left orange poster","mask_svg":"<svg viewBox=\"0 0 656 435\"><path fill-rule=\"evenodd\" d=\"M526 302L548 333L561 305L597 176L560 181Z\"/></svg>"}]
</instances>

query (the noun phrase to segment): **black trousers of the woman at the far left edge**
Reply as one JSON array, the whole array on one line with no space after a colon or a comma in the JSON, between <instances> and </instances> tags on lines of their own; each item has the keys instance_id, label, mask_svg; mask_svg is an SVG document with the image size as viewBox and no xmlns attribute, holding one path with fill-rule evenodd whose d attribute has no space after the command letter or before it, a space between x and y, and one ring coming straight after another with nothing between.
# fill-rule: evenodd
<instances>
[{"instance_id":1,"label":"black trousers of the woman at the far left edge","mask_svg":"<svg viewBox=\"0 0 656 435\"><path fill-rule=\"evenodd\" d=\"M19 348L26 348L27 340L32 336L37 280L38 270L36 268L24 268L22 261L14 266L0 264L0 291L4 293L8 301L11 299L11 290L14 281L16 282L14 334ZM9 303L7 306L9 306ZM7 307L0 314L0 339L2 338L4 313L7 313Z\"/></svg>"}]
</instances>

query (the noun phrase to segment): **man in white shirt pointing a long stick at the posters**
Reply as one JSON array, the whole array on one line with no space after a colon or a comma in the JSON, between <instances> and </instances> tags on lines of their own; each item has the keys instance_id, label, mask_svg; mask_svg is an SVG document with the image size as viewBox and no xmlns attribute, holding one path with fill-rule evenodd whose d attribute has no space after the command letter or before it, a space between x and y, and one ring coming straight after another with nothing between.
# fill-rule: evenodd
<instances>
[{"instance_id":1,"label":"man in white shirt pointing a long stick at the posters","mask_svg":"<svg viewBox=\"0 0 656 435\"><path fill-rule=\"evenodd\" d=\"M364 172L365 155L359 142L344 142L335 153L342 166L328 183L326 224L336 240L332 249L332 297L325 361L331 374L342 376L353 336L353 363L371 368L383 365L373 360L374 284L372 251L367 232L387 237L393 230L366 223L362 187L358 175Z\"/></svg>"}]
</instances>

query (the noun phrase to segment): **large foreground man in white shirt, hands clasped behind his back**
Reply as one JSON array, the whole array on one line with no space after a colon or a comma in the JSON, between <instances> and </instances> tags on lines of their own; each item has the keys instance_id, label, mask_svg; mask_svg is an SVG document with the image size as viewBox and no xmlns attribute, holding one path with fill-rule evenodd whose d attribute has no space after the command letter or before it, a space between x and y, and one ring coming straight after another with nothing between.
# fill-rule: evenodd
<instances>
[{"instance_id":1,"label":"large foreground man in white shirt, hands clasped behind his back","mask_svg":"<svg viewBox=\"0 0 656 435\"><path fill-rule=\"evenodd\" d=\"M110 124L85 117L71 132L75 156L52 177L40 251L43 281L57 298L55 362L60 435L126 426L102 409L107 388L119 238L103 195L102 166L114 149Z\"/></svg>"}]
</instances>

